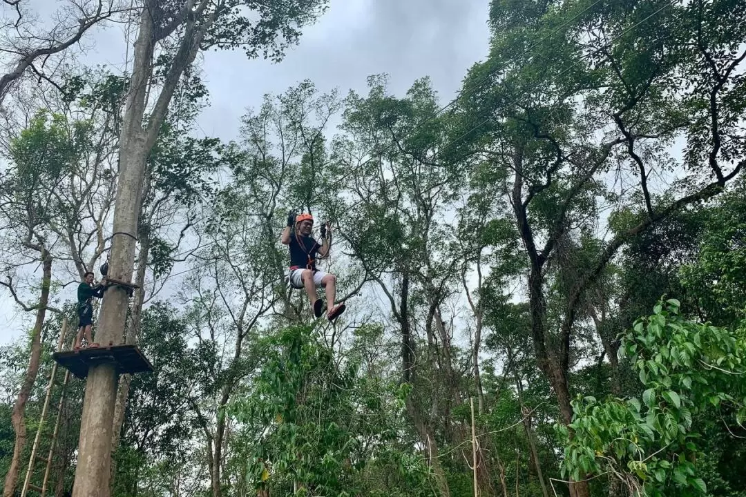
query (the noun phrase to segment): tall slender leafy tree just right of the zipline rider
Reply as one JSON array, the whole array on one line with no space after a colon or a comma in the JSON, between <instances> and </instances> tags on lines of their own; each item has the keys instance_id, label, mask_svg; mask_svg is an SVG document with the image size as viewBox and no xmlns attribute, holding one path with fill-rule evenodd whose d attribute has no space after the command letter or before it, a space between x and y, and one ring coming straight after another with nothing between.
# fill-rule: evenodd
<instances>
[{"instance_id":1,"label":"tall slender leafy tree just right of the zipline rider","mask_svg":"<svg viewBox=\"0 0 746 497\"><path fill-rule=\"evenodd\" d=\"M368 95L351 92L343 124L348 136L336 140L337 165L329 179L342 184L354 202L332 197L326 210L339 219L354 258L386 296L401 337L402 380L428 384L413 389L407 414L427 447L439 491L448 496L436 426L443 422L449 440L465 436L466 428L450 420L451 409L463 399L448 314L460 260L446 255L454 232L445 221L458 182L454 168L433 162L447 142L437 108L427 78L401 99L388 94L382 75L369 77ZM420 353L417 331L425 337ZM425 370L441 374L420 375L419 360Z\"/></svg>"}]
</instances>

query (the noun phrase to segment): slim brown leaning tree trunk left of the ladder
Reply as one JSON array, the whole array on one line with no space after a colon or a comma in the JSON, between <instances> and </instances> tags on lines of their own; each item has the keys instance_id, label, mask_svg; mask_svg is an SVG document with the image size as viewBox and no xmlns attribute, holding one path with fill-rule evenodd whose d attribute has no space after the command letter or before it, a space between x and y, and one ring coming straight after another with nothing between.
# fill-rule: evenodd
<instances>
[{"instance_id":1,"label":"slim brown leaning tree trunk left of the ladder","mask_svg":"<svg viewBox=\"0 0 746 497\"><path fill-rule=\"evenodd\" d=\"M28 402L31 389L37 380L41 360L42 326L46 317L46 306L49 303L49 283L51 282L51 255L43 247L41 250L43 271L42 291L39 298L39 307L37 308L37 320L34 323L34 329L31 330L31 357L28 359L26 375L23 379L21 390L18 393L16 404L13 405L13 414L10 416L10 422L13 424L13 430L16 432L16 440L13 446L13 458L10 459L10 467L7 470L7 475L5 475L4 497L12 497L16 490L16 483L21 470L21 455L26 445L26 422L24 418L26 402Z\"/></svg>"}]
</instances>

